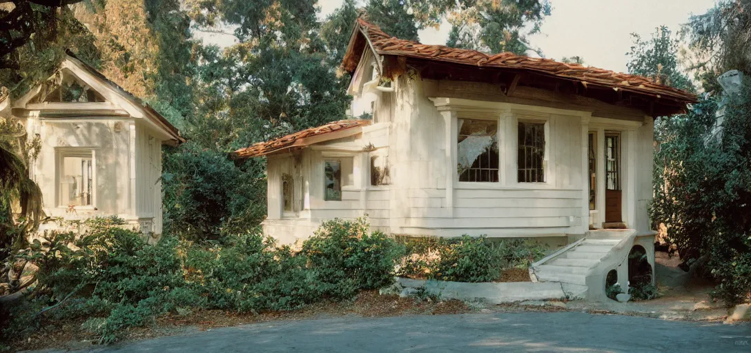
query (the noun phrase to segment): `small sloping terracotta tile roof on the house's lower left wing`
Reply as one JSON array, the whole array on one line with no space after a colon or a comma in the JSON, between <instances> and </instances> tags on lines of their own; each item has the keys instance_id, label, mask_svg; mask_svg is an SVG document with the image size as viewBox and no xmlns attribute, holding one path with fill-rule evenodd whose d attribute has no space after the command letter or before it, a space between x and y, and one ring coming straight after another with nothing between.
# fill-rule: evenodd
<instances>
[{"instance_id":1,"label":"small sloping terracotta tile roof on the house's lower left wing","mask_svg":"<svg viewBox=\"0 0 751 353\"><path fill-rule=\"evenodd\" d=\"M291 147L303 147L310 145L310 141L304 141L304 139L312 136L321 136L327 133L335 133L337 131L343 131L352 129L354 127L363 127L371 123L370 120L340 120L333 121L328 124L319 127L311 127L297 133L291 133L287 136L279 137L267 142L258 142L250 147L240 148L232 153L233 157L237 158L249 158L260 157L273 152L282 151L285 148ZM319 140L317 142L323 142L326 139Z\"/></svg>"}]
</instances>

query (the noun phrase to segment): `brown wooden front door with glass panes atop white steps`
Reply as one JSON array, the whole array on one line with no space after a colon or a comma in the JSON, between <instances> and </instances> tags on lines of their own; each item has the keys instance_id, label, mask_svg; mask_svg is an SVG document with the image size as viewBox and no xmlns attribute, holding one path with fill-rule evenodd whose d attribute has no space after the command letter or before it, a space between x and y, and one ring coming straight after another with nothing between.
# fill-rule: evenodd
<instances>
[{"instance_id":1,"label":"brown wooden front door with glass panes atop white steps","mask_svg":"<svg viewBox=\"0 0 751 353\"><path fill-rule=\"evenodd\" d=\"M620 134L605 134L605 222L623 222L620 190Z\"/></svg>"}]
</instances>

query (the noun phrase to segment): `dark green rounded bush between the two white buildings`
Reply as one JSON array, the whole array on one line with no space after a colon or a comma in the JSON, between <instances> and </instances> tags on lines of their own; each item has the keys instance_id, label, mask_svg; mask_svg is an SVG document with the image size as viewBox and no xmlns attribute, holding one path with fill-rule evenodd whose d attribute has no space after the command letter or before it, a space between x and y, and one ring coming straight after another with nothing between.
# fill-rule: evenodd
<instances>
[{"instance_id":1,"label":"dark green rounded bush between the two white buildings","mask_svg":"<svg viewBox=\"0 0 751 353\"><path fill-rule=\"evenodd\" d=\"M252 229L266 214L266 179L258 160L187 142L164 155L164 232L185 239L216 239L222 228Z\"/></svg>"}]
</instances>

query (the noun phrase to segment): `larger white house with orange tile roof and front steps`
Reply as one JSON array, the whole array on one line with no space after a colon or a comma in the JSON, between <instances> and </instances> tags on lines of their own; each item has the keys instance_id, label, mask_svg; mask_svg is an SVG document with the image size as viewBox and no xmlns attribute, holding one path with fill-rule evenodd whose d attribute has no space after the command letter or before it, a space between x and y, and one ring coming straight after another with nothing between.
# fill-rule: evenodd
<instances>
[{"instance_id":1,"label":"larger white house with orange tile roof and front steps","mask_svg":"<svg viewBox=\"0 0 751 353\"><path fill-rule=\"evenodd\" d=\"M653 119L694 95L580 64L400 40L363 19L342 69L351 115L372 120L235 152L268 159L268 235L293 242L321 220L367 215L398 235L541 238L569 247L535 264L538 277L576 265L566 270L580 286L595 262L617 258L611 267L626 271L635 243L653 264ZM626 230L590 231L610 228ZM561 261L583 253L588 261Z\"/></svg>"}]
</instances>

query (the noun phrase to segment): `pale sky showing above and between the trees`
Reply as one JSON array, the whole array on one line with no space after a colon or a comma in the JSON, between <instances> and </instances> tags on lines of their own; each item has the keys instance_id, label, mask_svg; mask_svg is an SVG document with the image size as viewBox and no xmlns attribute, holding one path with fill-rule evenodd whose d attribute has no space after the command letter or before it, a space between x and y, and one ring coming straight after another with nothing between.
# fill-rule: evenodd
<instances>
[{"instance_id":1,"label":"pale sky showing above and between the trees","mask_svg":"<svg viewBox=\"0 0 751 353\"><path fill-rule=\"evenodd\" d=\"M342 0L319 0L319 17L324 19ZM552 13L542 22L541 33L529 37L546 58L581 56L584 64L626 72L626 52L631 33L649 37L659 25L678 31L691 14L705 13L715 0L550 0ZM451 25L420 31L421 43L445 44ZM231 31L231 30L230 30ZM226 46L234 37L199 34L206 43Z\"/></svg>"}]
</instances>

